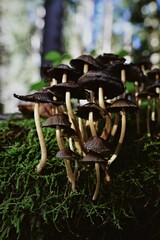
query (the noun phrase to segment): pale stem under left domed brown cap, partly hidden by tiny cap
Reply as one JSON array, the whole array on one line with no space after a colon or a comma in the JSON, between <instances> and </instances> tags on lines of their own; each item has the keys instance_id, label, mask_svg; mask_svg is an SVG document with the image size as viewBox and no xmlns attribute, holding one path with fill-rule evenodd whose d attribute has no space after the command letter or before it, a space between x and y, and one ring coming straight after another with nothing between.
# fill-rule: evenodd
<instances>
[{"instance_id":1,"label":"pale stem under left domed brown cap, partly hidden by tiny cap","mask_svg":"<svg viewBox=\"0 0 160 240\"><path fill-rule=\"evenodd\" d=\"M65 144L63 142L63 139L61 138L61 130L59 126L56 126L56 139L57 139L57 144L59 149L64 150ZM70 160L64 159L64 164L66 168L67 178L72 185L72 190L74 191L76 189L76 184L75 184L75 177L70 165Z\"/></svg>"}]
</instances>

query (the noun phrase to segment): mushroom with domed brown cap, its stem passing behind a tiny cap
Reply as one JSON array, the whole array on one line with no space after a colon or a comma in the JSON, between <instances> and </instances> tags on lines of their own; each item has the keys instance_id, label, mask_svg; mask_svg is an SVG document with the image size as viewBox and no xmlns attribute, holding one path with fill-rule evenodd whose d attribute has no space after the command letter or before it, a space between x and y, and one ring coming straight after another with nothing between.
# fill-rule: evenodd
<instances>
[{"instance_id":1,"label":"mushroom with domed brown cap, its stem passing behind a tiny cap","mask_svg":"<svg viewBox=\"0 0 160 240\"><path fill-rule=\"evenodd\" d=\"M64 149L66 149L66 146L62 138L61 129L70 128L68 116L64 113L54 114L43 123L42 127L51 127L56 129L56 139L59 150L64 151ZM71 182L72 190L75 190L75 177L71 169L70 160L68 158L64 158L64 163L66 167L67 178L69 182Z\"/></svg>"}]
</instances>

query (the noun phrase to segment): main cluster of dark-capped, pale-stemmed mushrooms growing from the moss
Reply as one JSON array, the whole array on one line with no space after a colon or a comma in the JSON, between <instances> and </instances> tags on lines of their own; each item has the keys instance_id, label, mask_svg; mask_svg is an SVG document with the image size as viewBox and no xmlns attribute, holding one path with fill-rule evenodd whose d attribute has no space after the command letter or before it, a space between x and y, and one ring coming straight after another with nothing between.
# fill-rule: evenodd
<instances>
[{"instance_id":1,"label":"main cluster of dark-capped, pale-stemmed mushrooms growing from the moss","mask_svg":"<svg viewBox=\"0 0 160 240\"><path fill-rule=\"evenodd\" d=\"M71 189L74 191L78 185L79 166L85 164L87 168L94 164L96 179L92 200L96 200L101 175L103 173L104 180L110 181L110 165L118 157L123 144L126 114L139 109L135 103L136 87L141 80L144 82L146 75L140 66L126 64L124 58L112 53L97 58L81 55L72 59L70 65L44 66L41 71L50 86L25 96L14 94L22 101L35 103L35 124L41 147L36 171L40 173L47 162L43 127L55 128L59 148L56 157L64 161ZM134 82L133 99L128 97L126 81ZM154 92L153 89L150 91ZM42 126L39 103L52 106L50 117ZM115 139L117 143L112 144Z\"/></svg>"}]
</instances>

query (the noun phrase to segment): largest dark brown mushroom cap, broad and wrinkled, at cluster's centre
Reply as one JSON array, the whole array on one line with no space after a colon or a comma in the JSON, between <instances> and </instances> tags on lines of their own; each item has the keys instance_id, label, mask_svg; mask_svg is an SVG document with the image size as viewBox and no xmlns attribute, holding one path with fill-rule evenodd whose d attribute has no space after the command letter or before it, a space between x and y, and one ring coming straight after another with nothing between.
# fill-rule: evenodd
<instances>
[{"instance_id":1,"label":"largest dark brown mushroom cap, broad and wrinkled, at cluster's centre","mask_svg":"<svg viewBox=\"0 0 160 240\"><path fill-rule=\"evenodd\" d=\"M124 85L121 80L111 76L102 70L91 70L78 79L78 84L88 90L92 90L95 97L98 96L98 88L102 87L104 96L114 98L124 92Z\"/></svg>"}]
</instances>

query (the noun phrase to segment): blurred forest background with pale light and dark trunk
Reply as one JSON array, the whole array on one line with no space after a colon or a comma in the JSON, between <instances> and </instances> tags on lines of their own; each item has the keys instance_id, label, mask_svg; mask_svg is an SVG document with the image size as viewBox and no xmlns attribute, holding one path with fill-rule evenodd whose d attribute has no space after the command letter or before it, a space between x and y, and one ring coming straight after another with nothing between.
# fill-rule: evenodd
<instances>
[{"instance_id":1,"label":"blurred forest background with pale light and dark trunk","mask_svg":"<svg viewBox=\"0 0 160 240\"><path fill-rule=\"evenodd\" d=\"M160 0L1 0L0 17L1 113L17 111L13 93L40 81L50 51L160 66Z\"/></svg>"}]
</instances>

